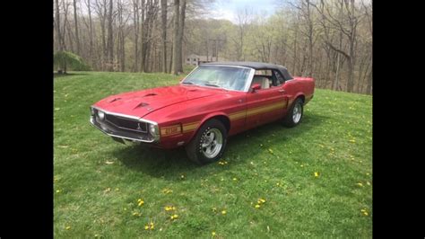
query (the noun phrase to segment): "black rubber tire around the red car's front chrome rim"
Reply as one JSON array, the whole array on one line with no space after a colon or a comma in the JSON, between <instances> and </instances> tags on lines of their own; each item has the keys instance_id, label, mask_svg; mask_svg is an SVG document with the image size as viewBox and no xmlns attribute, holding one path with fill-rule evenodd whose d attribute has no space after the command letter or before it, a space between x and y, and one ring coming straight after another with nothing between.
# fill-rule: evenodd
<instances>
[{"instance_id":1,"label":"black rubber tire around the red car's front chrome rim","mask_svg":"<svg viewBox=\"0 0 425 239\"><path fill-rule=\"evenodd\" d=\"M212 131L215 131L215 134L218 134L216 130L219 130L221 132L221 148L220 151L218 150L218 147L216 148L215 154L217 155L211 155L212 157L205 156L205 150L203 148L204 141L210 140L210 138L207 138L208 135L211 136ZM218 134L219 135L219 134ZM214 135L213 137L220 137ZM227 129L224 127L223 123L221 123L220 120L208 120L206 121L201 128L197 131L194 138L192 138L192 141L189 142L186 146L186 154L189 157L189 159L196 164L209 164L215 161L218 161L221 158L221 155L224 152L224 148L226 147L227 143ZM212 142L212 146L213 146ZM215 146L218 146L216 144ZM217 153L218 152L218 153Z\"/></svg>"}]
</instances>

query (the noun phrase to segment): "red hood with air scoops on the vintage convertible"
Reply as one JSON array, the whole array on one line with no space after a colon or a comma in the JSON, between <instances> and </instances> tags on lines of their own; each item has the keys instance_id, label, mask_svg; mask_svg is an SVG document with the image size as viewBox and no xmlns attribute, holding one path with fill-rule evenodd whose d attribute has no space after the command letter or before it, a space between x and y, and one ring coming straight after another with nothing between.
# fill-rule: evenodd
<instances>
[{"instance_id":1,"label":"red hood with air scoops on the vintage convertible","mask_svg":"<svg viewBox=\"0 0 425 239\"><path fill-rule=\"evenodd\" d=\"M211 97L224 92L221 89L197 86L165 86L112 95L95 103L94 106L105 111L142 118L153 111L158 111L169 105Z\"/></svg>"}]
</instances>

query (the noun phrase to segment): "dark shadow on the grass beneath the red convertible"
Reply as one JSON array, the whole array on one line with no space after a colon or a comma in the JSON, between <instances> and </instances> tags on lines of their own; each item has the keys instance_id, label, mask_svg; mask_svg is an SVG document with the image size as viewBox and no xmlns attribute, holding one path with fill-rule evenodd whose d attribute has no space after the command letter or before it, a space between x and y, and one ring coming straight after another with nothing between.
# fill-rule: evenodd
<instances>
[{"instance_id":1,"label":"dark shadow on the grass beneath the red convertible","mask_svg":"<svg viewBox=\"0 0 425 239\"><path fill-rule=\"evenodd\" d=\"M285 146L287 139L302 137L311 128L317 128L325 119L327 117L323 115L309 113L295 128L285 128L280 122L273 122L230 137L223 155L223 158L231 163L226 170L239 164L245 164L248 159L256 158L258 154L264 154L264 150L257 150L260 143L267 144L265 142L270 140L271 143L265 147ZM201 166L190 162L184 147L164 150L149 146L126 146L114 151L113 154L131 170L172 181L178 180L176 175L190 176L191 173L204 172L205 169L214 171L214 167L221 167L218 164Z\"/></svg>"}]
</instances>

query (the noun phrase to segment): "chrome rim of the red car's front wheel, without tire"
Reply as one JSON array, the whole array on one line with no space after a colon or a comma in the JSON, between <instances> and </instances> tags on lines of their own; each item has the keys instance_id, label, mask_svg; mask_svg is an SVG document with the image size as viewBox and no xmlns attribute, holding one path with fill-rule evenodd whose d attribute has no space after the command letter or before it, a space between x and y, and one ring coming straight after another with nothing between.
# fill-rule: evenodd
<instances>
[{"instance_id":1,"label":"chrome rim of the red car's front wheel, without tire","mask_svg":"<svg viewBox=\"0 0 425 239\"><path fill-rule=\"evenodd\" d=\"M210 128L201 138L202 153L207 158L213 158L220 153L223 137L218 128Z\"/></svg>"}]
</instances>

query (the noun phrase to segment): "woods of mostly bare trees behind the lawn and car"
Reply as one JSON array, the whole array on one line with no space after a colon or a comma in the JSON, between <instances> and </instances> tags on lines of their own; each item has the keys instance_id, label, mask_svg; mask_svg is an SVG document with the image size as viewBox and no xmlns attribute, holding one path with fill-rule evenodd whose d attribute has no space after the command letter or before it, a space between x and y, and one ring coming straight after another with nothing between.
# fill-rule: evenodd
<instances>
[{"instance_id":1,"label":"woods of mostly bare trees behind the lawn and car","mask_svg":"<svg viewBox=\"0 0 425 239\"><path fill-rule=\"evenodd\" d=\"M95 71L179 74L190 54L261 61L317 87L372 94L372 2L276 1L216 20L207 0L54 0L54 51ZM75 57L76 58L76 57Z\"/></svg>"}]
</instances>

